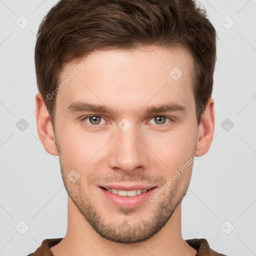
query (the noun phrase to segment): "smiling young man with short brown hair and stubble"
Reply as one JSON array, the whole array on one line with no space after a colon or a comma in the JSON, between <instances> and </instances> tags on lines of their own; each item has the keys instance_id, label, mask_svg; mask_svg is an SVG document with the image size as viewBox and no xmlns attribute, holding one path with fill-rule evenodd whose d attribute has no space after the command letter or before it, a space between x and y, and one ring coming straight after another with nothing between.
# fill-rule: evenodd
<instances>
[{"instance_id":1,"label":"smiling young man with short brown hair and stubble","mask_svg":"<svg viewBox=\"0 0 256 256\"><path fill-rule=\"evenodd\" d=\"M216 33L192 0L60 0L35 46L36 123L67 232L36 255L223 255L184 240L181 201L214 132Z\"/></svg>"}]
</instances>

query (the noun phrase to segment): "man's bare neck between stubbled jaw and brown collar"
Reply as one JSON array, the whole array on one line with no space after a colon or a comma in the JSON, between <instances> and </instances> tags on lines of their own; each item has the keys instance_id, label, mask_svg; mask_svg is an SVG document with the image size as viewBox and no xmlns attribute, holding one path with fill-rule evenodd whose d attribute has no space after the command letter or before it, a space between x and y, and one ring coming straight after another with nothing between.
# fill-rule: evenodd
<instances>
[{"instance_id":1,"label":"man's bare neck between stubbled jaw and brown collar","mask_svg":"<svg viewBox=\"0 0 256 256\"><path fill-rule=\"evenodd\" d=\"M181 235L181 204L179 204L164 227L149 239L132 244L122 244L101 237L84 219L68 196L67 231L65 237L50 248L54 256L131 256L168 255L195 256Z\"/></svg>"}]
</instances>

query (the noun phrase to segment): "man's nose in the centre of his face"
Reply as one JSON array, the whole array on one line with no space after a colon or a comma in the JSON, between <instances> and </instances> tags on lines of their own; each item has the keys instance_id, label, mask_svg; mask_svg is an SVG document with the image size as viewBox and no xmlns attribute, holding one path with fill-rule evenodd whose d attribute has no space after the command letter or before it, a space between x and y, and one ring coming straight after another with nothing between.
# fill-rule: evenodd
<instances>
[{"instance_id":1,"label":"man's nose in the centre of his face","mask_svg":"<svg viewBox=\"0 0 256 256\"><path fill-rule=\"evenodd\" d=\"M138 168L146 168L148 149L141 132L136 131L133 125L126 131L117 127L116 132L110 144L111 148L109 148L109 166L125 173L131 173Z\"/></svg>"}]
</instances>

